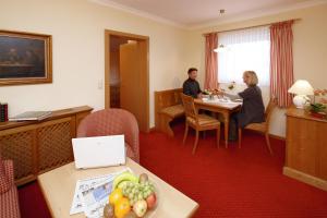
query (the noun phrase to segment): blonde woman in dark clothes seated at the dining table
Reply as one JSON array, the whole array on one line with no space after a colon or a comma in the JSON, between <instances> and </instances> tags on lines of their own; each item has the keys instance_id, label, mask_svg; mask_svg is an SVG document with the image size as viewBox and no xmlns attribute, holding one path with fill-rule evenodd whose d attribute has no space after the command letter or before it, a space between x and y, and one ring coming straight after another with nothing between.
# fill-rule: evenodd
<instances>
[{"instance_id":1,"label":"blonde woman in dark clothes seated at the dining table","mask_svg":"<svg viewBox=\"0 0 327 218\"><path fill-rule=\"evenodd\" d=\"M238 140L238 128L245 128L250 123L261 123L265 121L265 106L262 90L257 86L258 80L254 71L243 73L243 82L247 85L243 92L237 96L221 93L231 99L242 98L243 105L238 113L233 113L229 124L229 141Z\"/></svg>"}]
</instances>

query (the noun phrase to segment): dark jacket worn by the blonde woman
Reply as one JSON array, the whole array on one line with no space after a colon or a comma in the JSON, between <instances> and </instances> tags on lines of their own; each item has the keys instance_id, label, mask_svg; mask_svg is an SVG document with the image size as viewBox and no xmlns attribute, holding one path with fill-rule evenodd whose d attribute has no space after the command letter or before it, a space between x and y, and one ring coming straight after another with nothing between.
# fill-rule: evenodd
<instances>
[{"instance_id":1,"label":"dark jacket worn by the blonde woman","mask_svg":"<svg viewBox=\"0 0 327 218\"><path fill-rule=\"evenodd\" d=\"M239 96L243 98L243 105L239 112L239 126L244 128L249 123L265 122L265 106L262 90L258 86L249 86Z\"/></svg>"}]
</instances>

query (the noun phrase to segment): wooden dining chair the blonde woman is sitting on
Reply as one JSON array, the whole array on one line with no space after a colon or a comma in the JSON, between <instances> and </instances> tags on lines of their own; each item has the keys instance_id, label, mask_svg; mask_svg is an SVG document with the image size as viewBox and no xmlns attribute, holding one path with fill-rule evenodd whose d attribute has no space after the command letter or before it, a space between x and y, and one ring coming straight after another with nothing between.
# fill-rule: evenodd
<instances>
[{"instance_id":1,"label":"wooden dining chair the blonde woman is sitting on","mask_svg":"<svg viewBox=\"0 0 327 218\"><path fill-rule=\"evenodd\" d=\"M266 137L266 144L269 149L270 155L272 155L272 149L270 146L270 141L269 141L269 124L270 124L270 117L274 108L276 107L276 98L270 98L269 104L266 108L265 111L265 122L262 123L250 123L246 125L244 129L245 130L253 130L255 132L264 133ZM239 128L239 147L241 148L242 144L242 129Z\"/></svg>"}]
</instances>

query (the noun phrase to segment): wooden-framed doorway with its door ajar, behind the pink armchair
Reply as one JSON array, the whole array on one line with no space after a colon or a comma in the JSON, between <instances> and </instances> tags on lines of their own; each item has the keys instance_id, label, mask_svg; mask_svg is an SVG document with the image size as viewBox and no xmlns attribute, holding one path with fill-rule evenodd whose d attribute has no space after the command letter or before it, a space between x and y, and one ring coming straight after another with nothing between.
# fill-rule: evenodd
<instances>
[{"instance_id":1,"label":"wooden-framed doorway with its door ajar, behind the pink armchair","mask_svg":"<svg viewBox=\"0 0 327 218\"><path fill-rule=\"evenodd\" d=\"M105 108L132 112L143 132L149 131L149 38L105 31Z\"/></svg>"}]
</instances>

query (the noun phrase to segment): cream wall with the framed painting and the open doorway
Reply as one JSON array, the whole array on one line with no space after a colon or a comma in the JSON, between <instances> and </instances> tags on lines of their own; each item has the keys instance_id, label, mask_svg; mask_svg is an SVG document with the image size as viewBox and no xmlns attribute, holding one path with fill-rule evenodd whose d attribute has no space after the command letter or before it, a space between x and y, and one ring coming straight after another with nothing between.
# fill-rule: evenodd
<instances>
[{"instance_id":1,"label":"cream wall with the framed painting and the open doorway","mask_svg":"<svg viewBox=\"0 0 327 218\"><path fill-rule=\"evenodd\" d=\"M149 36L150 125L154 90L184 78L187 32L87 0L0 0L0 29L52 35L53 83L0 87L10 116L89 105L104 108L105 29Z\"/></svg>"}]
</instances>

